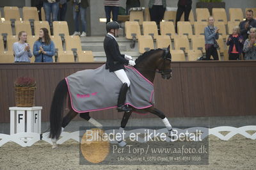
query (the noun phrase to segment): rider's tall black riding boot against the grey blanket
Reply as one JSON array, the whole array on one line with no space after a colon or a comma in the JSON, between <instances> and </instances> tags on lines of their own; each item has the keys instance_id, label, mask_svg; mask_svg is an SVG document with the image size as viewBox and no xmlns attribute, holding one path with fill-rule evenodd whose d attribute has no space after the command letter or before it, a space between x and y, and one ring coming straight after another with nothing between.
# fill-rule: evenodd
<instances>
[{"instance_id":1,"label":"rider's tall black riding boot against the grey blanket","mask_svg":"<svg viewBox=\"0 0 256 170\"><path fill-rule=\"evenodd\" d=\"M118 102L117 102L118 112L129 112L132 110L127 105L124 105L127 91L128 91L127 83L124 83L122 88L120 89L120 93L118 97Z\"/></svg>"}]
</instances>

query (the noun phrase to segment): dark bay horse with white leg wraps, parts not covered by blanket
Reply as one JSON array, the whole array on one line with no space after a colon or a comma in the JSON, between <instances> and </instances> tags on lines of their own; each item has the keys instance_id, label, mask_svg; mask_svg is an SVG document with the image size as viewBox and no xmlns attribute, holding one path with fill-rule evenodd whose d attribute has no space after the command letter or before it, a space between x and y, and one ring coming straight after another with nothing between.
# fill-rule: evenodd
<instances>
[{"instance_id":1,"label":"dark bay horse with white leg wraps, parts not covered by blanket","mask_svg":"<svg viewBox=\"0 0 256 170\"><path fill-rule=\"evenodd\" d=\"M172 70L171 70L171 61L172 55L170 54L170 46L166 49L156 49L150 50L142 54L138 59L136 59L136 65L134 68L138 70L145 78L148 79L150 82L154 82L156 73L161 73L163 79L170 79L172 77ZM58 86L54 91L54 96L52 98L51 104L51 113L50 113L50 134L49 137L52 139L53 146L52 148L56 147L56 140L60 137L61 132L63 129L68 125L68 123L77 116L77 112L75 112L72 107L68 114L63 118L63 108L65 105L66 97L68 94L68 87L67 82L65 79L59 82ZM117 101L116 101L117 102ZM68 105L70 105L70 100L68 100ZM159 116L163 120L164 125L172 132L172 126L170 125L169 121L165 117L164 113L156 109L155 107L148 107L146 109L135 109L132 108L132 111L136 112L150 112ZM129 117L132 114L130 112L124 112L124 116L121 121L121 126L119 130L124 130ZM95 127L102 128L102 125L91 118L89 116L89 112L84 112L80 114L80 117L84 120L89 121ZM120 146L125 146L124 141L118 141Z\"/></svg>"}]
</instances>

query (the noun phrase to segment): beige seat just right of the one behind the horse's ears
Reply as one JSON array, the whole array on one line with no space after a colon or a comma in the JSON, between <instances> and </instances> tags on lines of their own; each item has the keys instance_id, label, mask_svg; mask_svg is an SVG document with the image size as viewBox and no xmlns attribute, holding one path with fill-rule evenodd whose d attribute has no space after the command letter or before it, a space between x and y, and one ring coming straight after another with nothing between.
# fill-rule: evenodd
<instances>
[{"instance_id":1,"label":"beige seat just right of the one behind the horse's ears","mask_svg":"<svg viewBox=\"0 0 256 170\"><path fill-rule=\"evenodd\" d=\"M186 52L189 50L188 36L186 35L175 35L174 37L174 47L175 50L183 50Z\"/></svg>"}]
</instances>

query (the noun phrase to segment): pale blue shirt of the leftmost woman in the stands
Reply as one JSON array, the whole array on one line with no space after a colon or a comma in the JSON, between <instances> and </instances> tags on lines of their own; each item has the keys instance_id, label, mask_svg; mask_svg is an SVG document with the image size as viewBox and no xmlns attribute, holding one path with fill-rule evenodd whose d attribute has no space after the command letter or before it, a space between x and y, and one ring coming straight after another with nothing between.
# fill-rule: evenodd
<instances>
[{"instance_id":1,"label":"pale blue shirt of the leftmost woman in the stands","mask_svg":"<svg viewBox=\"0 0 256 170\"><path fill-rule=\"evenodd\" d=\"M25 51L25 47L28 46L28 43L20 43L20 42L15 42L13 43L13 52L15 55L14 61L19 61L19 62L30 62L30 59L32 57L31 52Z\"/></svg>"}]
</instances>

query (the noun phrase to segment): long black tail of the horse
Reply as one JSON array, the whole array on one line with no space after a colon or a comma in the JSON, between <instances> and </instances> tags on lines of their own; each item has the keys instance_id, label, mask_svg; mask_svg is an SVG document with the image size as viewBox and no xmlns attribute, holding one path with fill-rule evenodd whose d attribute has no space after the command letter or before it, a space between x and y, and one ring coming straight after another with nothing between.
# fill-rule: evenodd
<instances>
[{"instance_id":1,"label":"long black tail of the horse","mask_svg":"<svg viewBox=\"0 0 256 170\"><path fill-rule=\"evenodd\" d=\"M67 98L68 86L65 79L59 82L54 91L50 113L50 134L52 139L58 139L61 134L63 107Z\"/></svg>"}]
</instances>

